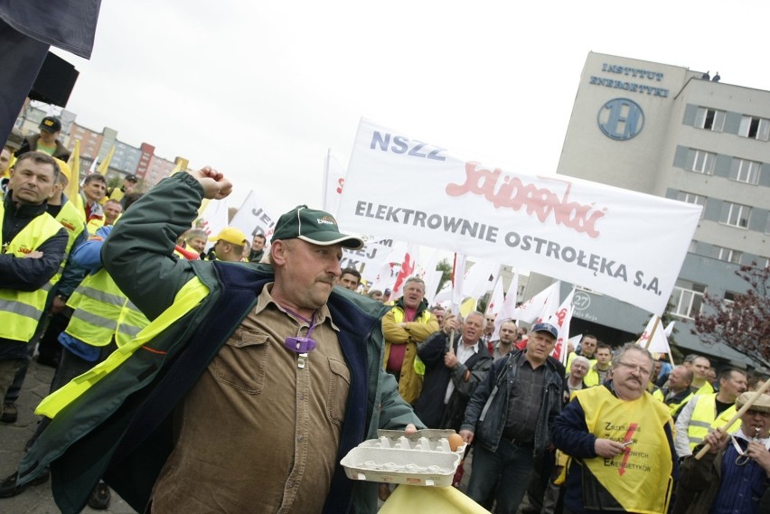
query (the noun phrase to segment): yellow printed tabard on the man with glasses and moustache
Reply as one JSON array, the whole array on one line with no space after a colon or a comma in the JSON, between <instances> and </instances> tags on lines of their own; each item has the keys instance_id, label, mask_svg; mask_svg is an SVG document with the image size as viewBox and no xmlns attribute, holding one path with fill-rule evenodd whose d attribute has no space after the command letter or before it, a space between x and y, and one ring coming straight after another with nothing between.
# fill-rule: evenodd
<instances>
[{"instance_id":1,"label":"yellow printed tabard on the man with glasses and moustache","mask_svg":"<svg viewBox=\"0 0 770 514\"><path fill-rule=\"evenodd\" d=\"M673 468L664 430L669 425L673 431L668 409L647 392L624 401L602 386L577 391L576 397L586 413L588 432L617 442L631 441L624 453L611 459L585 459L583 465L625 511L666 512Z\"/></svg>"}]
</instances>

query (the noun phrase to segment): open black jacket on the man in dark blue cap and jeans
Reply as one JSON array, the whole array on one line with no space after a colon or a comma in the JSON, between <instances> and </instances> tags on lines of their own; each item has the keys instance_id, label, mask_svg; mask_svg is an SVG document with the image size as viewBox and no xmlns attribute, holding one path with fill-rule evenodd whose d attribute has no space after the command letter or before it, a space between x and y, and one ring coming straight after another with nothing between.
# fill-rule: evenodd
<instances>
[{"instance_id":1,"label":"open black jacket on the man in dark blue cap and jeans","mask_svg":"<svg viewBox=\"0 0 770 514\"><path fill-rule=\"evenodd\" d=\"M495 361L492 370L476 388L468 407L465 408L462 429L473 432L474 441L484 445L490 452L496 452L500 444L508 419L508 400L516 387L516 372L521 360L526 358L526 353L519 350L509 353L506 359ZM537 454L545 452L550 444L549 426L561 412L564 394L564 378L556 361L548 359L543 366L546 367L546 374L543 378L543 397L534 441L534 451ZM484 419L481 419L483 414Z\"/></svg>"}]
</instances>

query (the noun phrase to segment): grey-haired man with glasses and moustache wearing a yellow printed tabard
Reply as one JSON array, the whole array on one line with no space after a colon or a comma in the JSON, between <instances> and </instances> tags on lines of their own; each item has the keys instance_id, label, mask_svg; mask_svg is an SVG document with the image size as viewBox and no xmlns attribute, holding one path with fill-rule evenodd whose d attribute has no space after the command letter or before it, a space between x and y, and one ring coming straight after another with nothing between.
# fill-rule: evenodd
<instances>
[{"instance_id":1,"label":"grey-haired man with glasses and moustache wearing a yellow printed tabard","mask_svg":"<svg viewBox=\"0 0 770 514\"><path fill-rule=\"evenodd\" d=\"M677 475L669 409L647 392L653 357L626 344L613 378L577 391L553 424L553 443L568 453L564 512L668 510Z\"/></svg>"}]
</instances>

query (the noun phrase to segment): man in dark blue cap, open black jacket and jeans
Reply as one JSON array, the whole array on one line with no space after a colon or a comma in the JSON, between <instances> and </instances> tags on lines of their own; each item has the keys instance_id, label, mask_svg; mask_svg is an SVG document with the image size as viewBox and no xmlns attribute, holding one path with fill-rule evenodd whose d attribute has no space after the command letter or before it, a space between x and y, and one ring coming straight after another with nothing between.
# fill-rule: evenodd
<instances>
[{"instance_id":1,"label":"man in dark blue cap, open black jacket and jeans","mask_svg":"<svg viewBox=\"0 0 770 514\"><path fill-rule=\"evenodd\" d=\"M495 512L519 509L535 457L549 449L564 390L563 368L549 358L558 337L552 324L533 326L526 349L496 360L465 409L460 435L476 441L468 496L482 503L496 488Z\"/></svg>"}]
</instances>

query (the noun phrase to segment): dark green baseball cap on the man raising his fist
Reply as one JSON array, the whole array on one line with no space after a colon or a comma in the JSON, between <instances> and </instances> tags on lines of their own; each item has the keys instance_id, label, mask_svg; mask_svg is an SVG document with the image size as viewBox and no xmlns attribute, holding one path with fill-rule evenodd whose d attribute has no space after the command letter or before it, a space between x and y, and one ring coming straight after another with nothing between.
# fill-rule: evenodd
<instances>
[{"instance_id":1,"label":"dark green baseball cap on the man raising his fist","mask_svg":"<svg viewBox=\"0 0 770 514\"><path fill-rule=\"evenodd\" d=\"M299 238L314 245L326 247L341 244L344 248L357 250L363 247L363 240L340 232L337 220L324 210L308 209L306 205L297 205L282 214L276 223L271 242L277 239Z\"/></svg>"}]
</instances>

